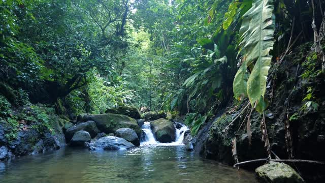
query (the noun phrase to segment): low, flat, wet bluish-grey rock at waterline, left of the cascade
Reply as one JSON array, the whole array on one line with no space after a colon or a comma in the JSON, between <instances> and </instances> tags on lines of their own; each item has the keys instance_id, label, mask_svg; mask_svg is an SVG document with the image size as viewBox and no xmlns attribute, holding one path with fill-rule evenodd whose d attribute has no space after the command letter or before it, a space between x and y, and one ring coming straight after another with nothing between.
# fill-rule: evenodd
<instances>
[{"instance_id":1,"label":"low, flat, wet bluish-grey rock at waterline, left of the cascade","mask_svg":"<svg viewBox=\"0 0 325 183\"><path fill-rule=\"evenodd\" d=\"M93 143L86 143L86 146L90 150L122 150L134 147L135 145L120 137L106 136Z\"/></svg>"}]
</instances>

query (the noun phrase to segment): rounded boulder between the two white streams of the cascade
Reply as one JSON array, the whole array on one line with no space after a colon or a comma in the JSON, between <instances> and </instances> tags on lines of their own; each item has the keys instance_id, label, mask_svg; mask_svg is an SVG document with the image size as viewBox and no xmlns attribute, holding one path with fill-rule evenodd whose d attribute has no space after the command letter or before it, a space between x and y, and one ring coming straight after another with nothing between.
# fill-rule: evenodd
<instances>
[{"instance_id":1,"label":"rounded boulder between the two white streams of the cascade","mask_svg":"<svg viewBox=\"0 0 325 183\"><path fill-rule=\"evenodd\" d=\"M172 142L176 139L176 129L172 121L160 118L150 123L151 131L159 142Z\"/></svg>"}]
</instances>

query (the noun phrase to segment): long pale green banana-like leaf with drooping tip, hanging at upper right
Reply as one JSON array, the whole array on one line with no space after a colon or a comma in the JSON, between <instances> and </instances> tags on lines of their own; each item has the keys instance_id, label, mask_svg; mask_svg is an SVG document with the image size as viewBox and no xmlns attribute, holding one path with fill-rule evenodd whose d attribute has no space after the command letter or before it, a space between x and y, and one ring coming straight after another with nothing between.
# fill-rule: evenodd
<instances>
[{"instance_id":1,"label":"long pale green banana-like leaf with drooping tip, hanging at upper right","mask_svg":"<svg viewBox=\"0 0 325 183\"><path fill-rule=\"evenodd\" d=\"M235 96L243 93L244 73L249 67L252 71L247 80L247 95L251 105L264 98L267 75L271 66L273 49L274 15L273 0L254 0L252 7L243 15L240 28L240 54L244 62L234 80ZM236 78L237 77L237 78ZM244 93L245 94L245 93Z\"/></svg>"}]
</instances>

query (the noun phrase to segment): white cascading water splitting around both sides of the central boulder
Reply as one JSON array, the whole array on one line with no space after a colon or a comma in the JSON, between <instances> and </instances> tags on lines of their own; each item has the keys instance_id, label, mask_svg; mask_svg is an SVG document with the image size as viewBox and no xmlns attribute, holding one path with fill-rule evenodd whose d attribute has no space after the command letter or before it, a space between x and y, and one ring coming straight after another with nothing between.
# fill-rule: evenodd
<instances>
[{"instance_id":1,"label":"white cascading water splitting around both sides of the central boulder","mask_svg":"<svg viewBox=\"0 0 325 183\"><path fill-rule=\"evenodd\" d=\"M153 133L150 129L150 122L145 122L144 125L142 126L142 130L146 134L145 141L141 142L141 145L164 145L164 146L174 146L174 145L184 145L182 143L184 139L184 132L188 130L188 128L181 124L182 127L180 129L176 129L176 140L175 142L171 143L160 143L156 141L156 139L153 136Z\"/></svg>"}]
</instances>

